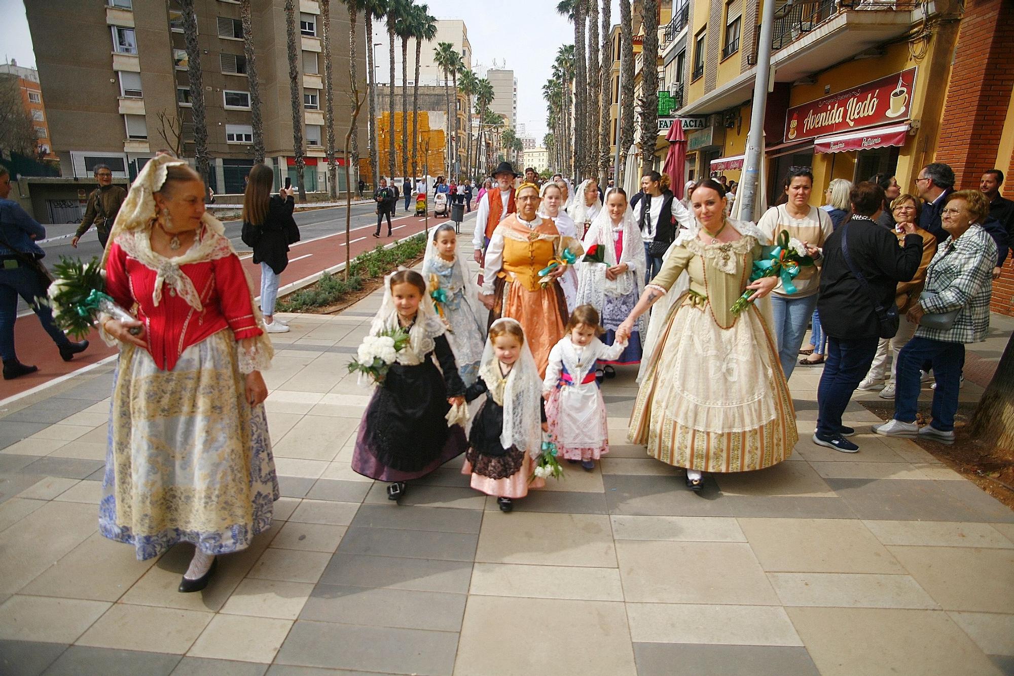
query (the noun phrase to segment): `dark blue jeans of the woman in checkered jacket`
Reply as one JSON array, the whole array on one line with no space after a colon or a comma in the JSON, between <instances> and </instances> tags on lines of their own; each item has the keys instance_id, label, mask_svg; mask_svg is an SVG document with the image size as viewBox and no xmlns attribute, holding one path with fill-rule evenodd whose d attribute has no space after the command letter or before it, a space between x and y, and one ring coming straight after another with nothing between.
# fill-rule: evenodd
<instances>
[{"instance_id":1,"label":"dark blue jeans of the woman in checkered jacket","mask_svg":"<svg viewBox=\"0 0 1014 676\"><path fill-rule=\"evenodd\" d=\"M919 369L923 362L933 367L937 389L933 391L933 425L940 431L954 429L957 397L961 392L964 345L916 336L898 351L894 373L894 419L914 422L922 389Z\"/></svg>"}]
</instances>

